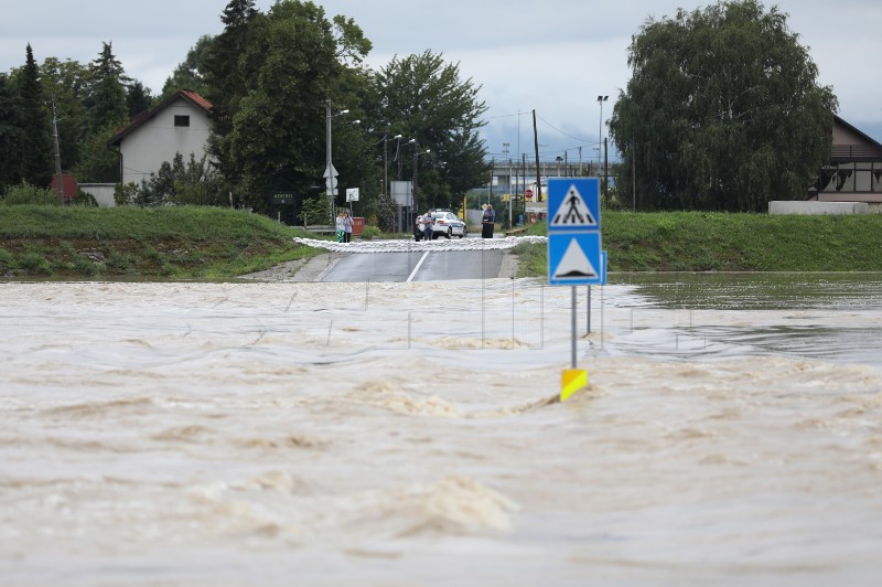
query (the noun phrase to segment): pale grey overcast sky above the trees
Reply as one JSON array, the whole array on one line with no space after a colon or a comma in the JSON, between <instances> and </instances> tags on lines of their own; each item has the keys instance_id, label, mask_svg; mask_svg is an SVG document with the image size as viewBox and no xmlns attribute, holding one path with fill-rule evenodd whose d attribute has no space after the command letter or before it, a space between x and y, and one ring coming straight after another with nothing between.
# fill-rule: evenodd
<instances>
[{"instance_id":1,"label":"pale grey overcast sky above the trees","mask_svg":"<svg viewBox=\"0 0 882 587\"><path fill-rule=\"evenodd\" d=\"M28 43L37 62L47 56L94 60L112 42L126 72L153 93L203 34L223 30L228 0L25 0L7 2L0 21L0 71L24 62ZM266 11L272 0L258 0ZM598 95L609 95L605 120L630 77L631 36L648 17L674 15L698 0L319 0L329 18L355 20L374 50L368 64L385 65L431 50L460 65L482 87L487 149L519 159L533 151L533 110L544 160L596 158L601 130ZM839 115L882 141L882 2L782 0L765 2L789 14L788 24L831 85ZM605 126L603 136L606 136ZM505 154L504 143L508 153Z\"/></svg>"}]
</instances>

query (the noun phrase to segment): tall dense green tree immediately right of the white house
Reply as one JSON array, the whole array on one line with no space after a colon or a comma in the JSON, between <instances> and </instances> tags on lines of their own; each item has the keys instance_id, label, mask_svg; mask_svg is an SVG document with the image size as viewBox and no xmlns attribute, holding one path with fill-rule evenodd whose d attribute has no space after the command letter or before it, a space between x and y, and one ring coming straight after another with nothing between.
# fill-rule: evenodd
<instances>
[{"instance_id":1,"label":"tall dense green tree immediately right of the white house","mask_svg":"<svg viewBox=\"0 0 882 587\"><path fill-rule=\"evenodd\" d=\"M335 17L332 23L324 9L298 0L282 0L255 17L249 39L238 61L248 92L230 117L230 131L215 145L218 154L238 162L245 203L267 211L273 191L318 193L325 168L326 100L358 116L356 96L343 82L351 74L347 64L359 63L370 45L352 20ZM334 142L357 150L359 134L341 126Z\"/></svg>"}]
</instances>

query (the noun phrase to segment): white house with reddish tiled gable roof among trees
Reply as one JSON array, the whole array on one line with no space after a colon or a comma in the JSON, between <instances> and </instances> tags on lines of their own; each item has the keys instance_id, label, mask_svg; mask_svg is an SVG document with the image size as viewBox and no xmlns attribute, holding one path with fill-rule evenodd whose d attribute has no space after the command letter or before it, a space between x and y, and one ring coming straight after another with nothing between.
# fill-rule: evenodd
<instances>
[{"instance_id":1,"label":"white house with reddish tiled gable roof among trees","mask_svg":"<svg viewBox=\"0 0 882 587\"><path fill-rule=\"evenodd\" d=\"M190 89L179 89L159 106L135 118L108 145L119 149L119 181L150 180L164 161L176 153L184 161L196 160L207 152L212 129L212 104Z\"/></svg>"}]
</instances>

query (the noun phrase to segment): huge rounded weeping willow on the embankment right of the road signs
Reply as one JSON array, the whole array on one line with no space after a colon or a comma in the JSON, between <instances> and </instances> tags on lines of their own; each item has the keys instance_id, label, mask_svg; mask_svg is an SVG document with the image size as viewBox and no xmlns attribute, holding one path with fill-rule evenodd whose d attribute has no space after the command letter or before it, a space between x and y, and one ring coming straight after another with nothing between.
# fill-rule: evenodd
<instances>
[{"instance_id":1,"label":"huge rounded weeping willow on the embankment right of the road signs","mask_svg":"<svg viewBox=\"0 0 882 587\"><path fill-rule=\"evenodd\" d=\"M802 198L829 159L838 108L808 50L786 13L754 0L647 20L610 120L623 201L759 212Z\"/></svg>"}]
</instances>

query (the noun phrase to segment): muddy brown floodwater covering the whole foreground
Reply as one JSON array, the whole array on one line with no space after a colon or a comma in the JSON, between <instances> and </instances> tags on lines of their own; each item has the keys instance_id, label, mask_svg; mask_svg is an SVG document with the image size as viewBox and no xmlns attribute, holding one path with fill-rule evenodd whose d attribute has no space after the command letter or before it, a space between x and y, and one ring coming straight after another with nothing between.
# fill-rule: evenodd
<instances>
[{"instance_id":1,"label":"muddy brown floodwater covering the whole foreground","mask_svg":"<svg viewBox=\"0 0 882 587\"><path fill-rule=\"evenodd\" d=\"M613 276L566 404L535 280L0 284L0 577L876 584L880 276L840 277Z\"/></svg>"}]
</instances>

